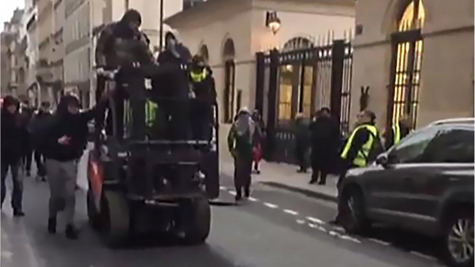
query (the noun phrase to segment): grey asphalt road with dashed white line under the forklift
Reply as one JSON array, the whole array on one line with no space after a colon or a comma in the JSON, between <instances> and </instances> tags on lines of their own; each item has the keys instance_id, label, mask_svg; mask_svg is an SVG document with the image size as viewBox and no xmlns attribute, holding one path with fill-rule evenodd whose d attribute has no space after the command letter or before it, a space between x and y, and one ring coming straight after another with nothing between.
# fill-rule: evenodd
<instances>
[{"instance_id":1,"label":"grey asphalt road with dashed white line under the forklift","mask_svg":"<svg viewBox=\"0 0 475 267\"><path fill-rule=\"evenodd\" d=\"M265 170L264 172L265 173ZM263 174L265 175L265 174ZM256 184L252 198L233 202L232 183L222 178L212 229L205 244L182 246L159 237L134 240L109 249L89 228L85 194L77 191L79 239L67 240L59 218L55 235L47 233L46 183L25 181L25 217L13 218L9 196L1 210L1 264L4 267L428 267L433 240L376 228L369 236L348 236L330 226L335 204ZM9 194L9 193L8 193Z\"/></svg>"}]
</instances>

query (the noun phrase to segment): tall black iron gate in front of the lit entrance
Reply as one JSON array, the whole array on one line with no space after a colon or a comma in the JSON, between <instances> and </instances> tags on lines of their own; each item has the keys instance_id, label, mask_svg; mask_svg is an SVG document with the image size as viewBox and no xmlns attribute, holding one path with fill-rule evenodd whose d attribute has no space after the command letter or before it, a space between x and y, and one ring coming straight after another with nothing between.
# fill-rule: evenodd
<instances>
[{"instance_id":1,"label":"tall black iron gate in front of the lit entrance","mask_svg":"<svg viewBox=\"0 0 475 267\"><path fill-rule=\"evenodd\" d=\"M348 131L352 47L344 40L287 52L256 53L256 108L266 123L267 160L294 162L295 117L330 107Z\"/></svg>"}]
</instances>

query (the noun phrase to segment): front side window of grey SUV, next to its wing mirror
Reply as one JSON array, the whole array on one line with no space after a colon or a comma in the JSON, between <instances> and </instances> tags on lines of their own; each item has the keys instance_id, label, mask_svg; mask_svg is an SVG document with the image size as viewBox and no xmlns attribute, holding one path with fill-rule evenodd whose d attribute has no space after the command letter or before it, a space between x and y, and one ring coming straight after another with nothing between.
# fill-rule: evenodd
<instances>
[{"instance_id":1,"label":"front side window of grey SUV, next to its wing mirror","mask_svg":"<svg viewBox=\"0 0 475 267\"><path fill-rule=\"evenodd\" d=\"M438 128L426 128L404 139L389 152L389 163L427 162L425 150L437 132Z\"/></svg>"}]
</instances>

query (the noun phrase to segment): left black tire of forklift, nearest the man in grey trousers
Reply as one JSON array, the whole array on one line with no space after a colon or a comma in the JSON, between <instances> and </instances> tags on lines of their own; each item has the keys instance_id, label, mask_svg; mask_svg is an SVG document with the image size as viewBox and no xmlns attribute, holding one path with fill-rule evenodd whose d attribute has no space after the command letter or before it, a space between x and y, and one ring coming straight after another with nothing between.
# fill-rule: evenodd
<instances>
[{"instance_id":1,"label":"left black tire of forklift, nearest the man in grey trousers","mask_svg":"<svg viewBox=\"0 0 475 267\"><path fill-rule=\"evenodd\" d=\"M118 192L104 191L101 206L104 240L110 247L120 247L129 235L128 201Z\"/></svg>"}]
</instances>

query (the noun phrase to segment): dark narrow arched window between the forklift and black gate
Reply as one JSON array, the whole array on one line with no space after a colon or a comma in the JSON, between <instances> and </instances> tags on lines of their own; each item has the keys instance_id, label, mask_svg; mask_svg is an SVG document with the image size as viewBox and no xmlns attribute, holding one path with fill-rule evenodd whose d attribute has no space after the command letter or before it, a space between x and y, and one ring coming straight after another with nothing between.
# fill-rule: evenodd
<instances>
[{"instance_id":1,"label":"dark narrow arched window between the forklift and black gate","mask_svg":"<svg viewBox=\"0 0 475 267\"><path fill-rule=\"evenodd\" d=\"M236 99L236 65L234 63L235 50L234 41L231 38L226 39L223 49L224 60L224 122L231 123L235 115Z\"/></svg>"}]
</instances>

